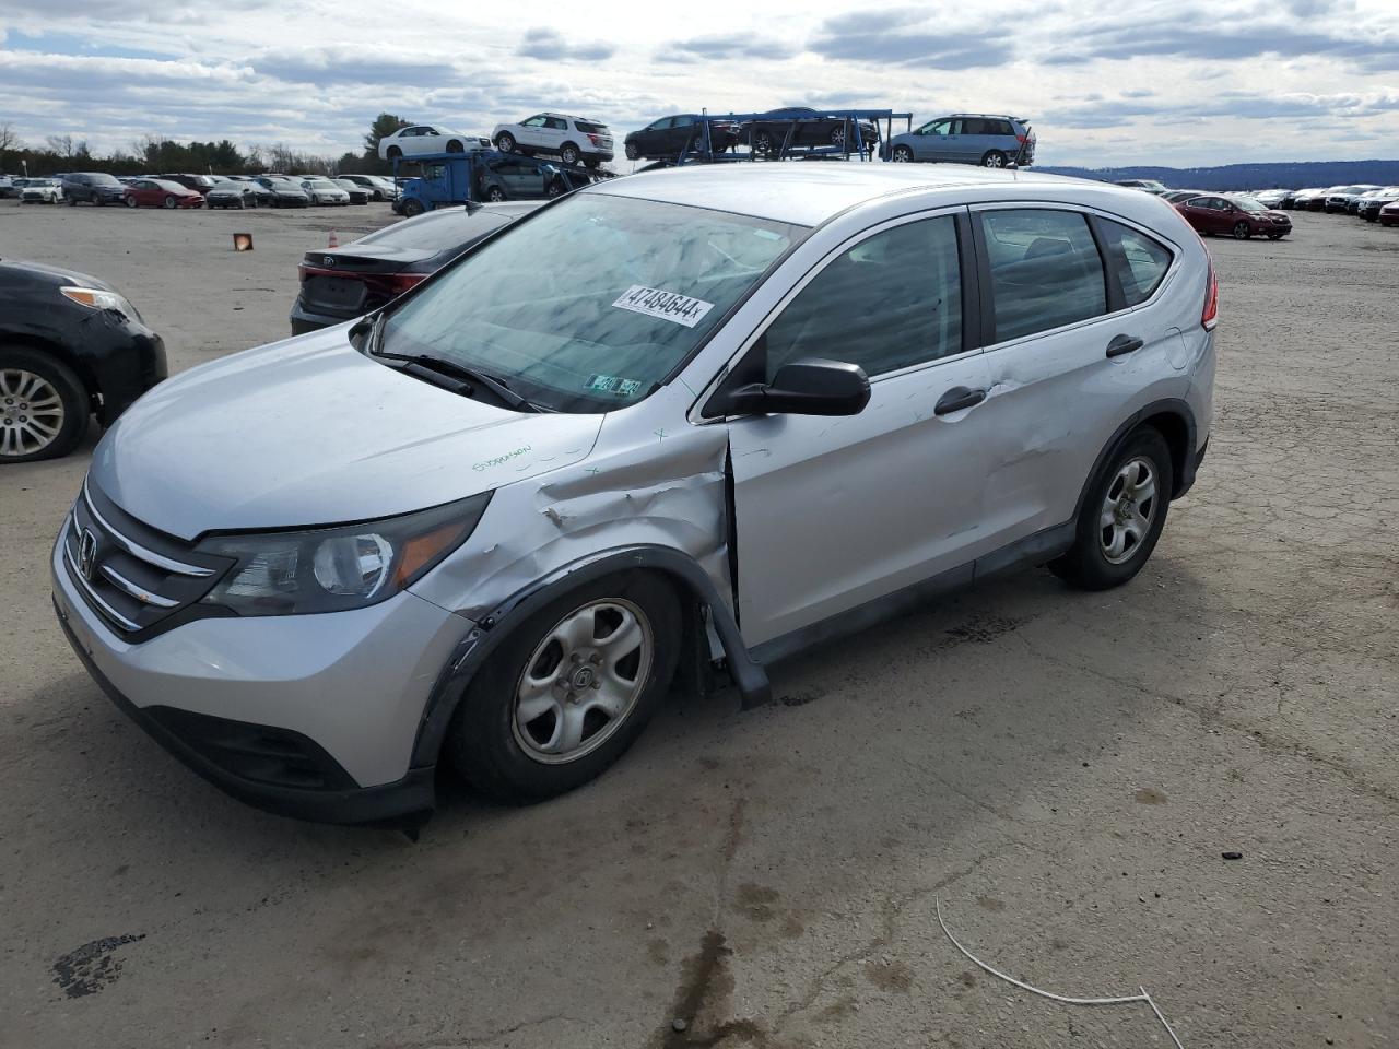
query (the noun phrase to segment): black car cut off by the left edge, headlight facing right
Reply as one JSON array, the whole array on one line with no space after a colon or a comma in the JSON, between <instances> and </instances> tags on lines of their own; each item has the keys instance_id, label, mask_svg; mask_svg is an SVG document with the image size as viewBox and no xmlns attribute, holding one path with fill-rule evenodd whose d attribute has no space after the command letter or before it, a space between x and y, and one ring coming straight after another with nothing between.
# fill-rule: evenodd
<instances>
[{"instance_id":1,"label":"black car cut off by the left edge, headlight facing right","mask_svg":"<svg viewBox=\"0 0 1399 1049\"><path fill-rule=\"evenodd\" d=\"M0 262L0 463L67 455L165 373L165 344L113 287Z\"/></svg>"}]
</instances>

